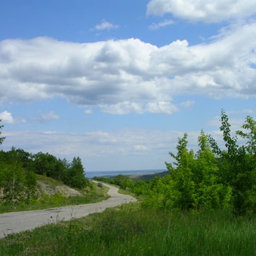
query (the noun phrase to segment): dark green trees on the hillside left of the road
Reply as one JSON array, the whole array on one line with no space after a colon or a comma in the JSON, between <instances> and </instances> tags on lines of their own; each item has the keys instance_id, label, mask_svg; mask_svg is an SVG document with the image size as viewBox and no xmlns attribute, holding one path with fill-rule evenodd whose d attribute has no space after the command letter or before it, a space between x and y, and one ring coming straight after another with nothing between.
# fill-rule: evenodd
<instances>
[{"instance_id":1,"label":"dark green trees on the hillside left of the road","mask_svg":"<svg viewBox=\"0 0 256 256\"><path fill-rule=\"evenodd\" d=\"M0 144L3 141L4 137L1 137ZM1 203L29 203L34 199L37 196L36 174L54 178L78 189L89 185L80 157L74 157L69 162L49 153L31 154L12 147L10 151L0 151Z\"/></svg>"}]
</instances>

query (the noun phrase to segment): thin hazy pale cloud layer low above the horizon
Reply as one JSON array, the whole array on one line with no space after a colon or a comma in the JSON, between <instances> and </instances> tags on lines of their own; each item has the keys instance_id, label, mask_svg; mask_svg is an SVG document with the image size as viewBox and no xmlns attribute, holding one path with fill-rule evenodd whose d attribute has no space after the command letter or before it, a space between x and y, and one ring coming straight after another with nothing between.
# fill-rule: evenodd
<instances>
[{"instance_id":1,"label":"thin hazy pale cloud layer low above the horizon","mask_svg":"<svg viewBox=\"0 0 256 256\"><path fill-rule=\"evenodd\" d=\"M189 134L192 147L197 146L198 135L199 132ZM165 168L165 161L170 160L168 151L175 151L177 138L182 137L183 132L149 129L84 133L23 130L7 131L4 136L7 136L2 145L4 150L10 150L15 145L16 148L23 148L33 154L39 151L49 152L61 159L72 160L72 157L79 156L85 159L86 170L102 170L102 162L103 170L124 170L124 164L131 170L159 168L159 163ZM148 154L151 155L150 159Z\"/></svg>"}]
</instances>

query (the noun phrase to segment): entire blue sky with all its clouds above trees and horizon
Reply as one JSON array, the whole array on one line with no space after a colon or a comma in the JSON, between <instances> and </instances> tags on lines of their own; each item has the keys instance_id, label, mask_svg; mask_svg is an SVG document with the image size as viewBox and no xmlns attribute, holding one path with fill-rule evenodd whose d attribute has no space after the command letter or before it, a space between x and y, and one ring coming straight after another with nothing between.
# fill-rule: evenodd
<instances>
[{"instance_id":1,"label":"entire blue sky with all its clouds above trees and horizon","mask_svg":"<svg viewBox=\"0 0 256 256\"><path fill-rule=\"evenodd\" d=\"M256 1L0 0L2 150L165 169L256 118Z\"/></svg>"}]
</instances>

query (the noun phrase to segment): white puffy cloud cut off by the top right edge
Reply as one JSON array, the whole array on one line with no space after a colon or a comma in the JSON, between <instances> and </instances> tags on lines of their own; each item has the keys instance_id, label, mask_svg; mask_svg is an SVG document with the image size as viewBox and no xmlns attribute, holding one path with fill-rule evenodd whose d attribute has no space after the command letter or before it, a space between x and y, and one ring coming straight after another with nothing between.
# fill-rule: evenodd
<instances>
[{"instance_id":1,"label":"white puffy cloud cut off by the top right edge","mask_svg":"<svg viewBox=\"0 0 256 256\"><path fill-rule=\"evenodd\" d=\"M247 18L256 13L252 0L151 0L148 15L173 14L174 17L192 22L218 23L223 20Z\"/></svg>"}]
</instances>

